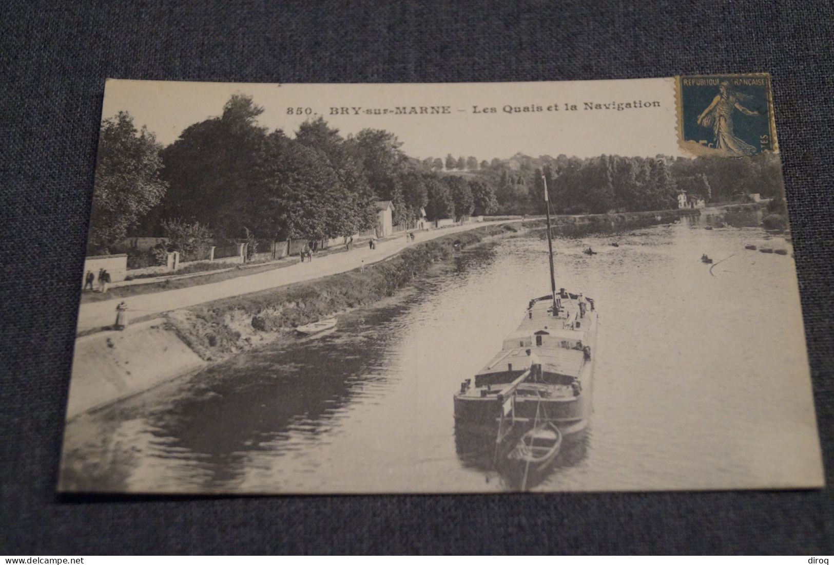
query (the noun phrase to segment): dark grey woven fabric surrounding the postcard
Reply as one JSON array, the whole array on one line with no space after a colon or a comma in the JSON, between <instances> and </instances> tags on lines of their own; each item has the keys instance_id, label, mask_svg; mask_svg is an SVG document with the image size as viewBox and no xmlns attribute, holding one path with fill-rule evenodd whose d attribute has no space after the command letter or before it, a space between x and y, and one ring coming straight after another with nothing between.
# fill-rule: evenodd
<instances>
[{"instance_id":1,"label":"dark grey woven fabric surrounding the postcard","mask_svg":"<svg viewBox=\"0 0 834 565\"><path fill-rule=\"evenodd\" d=\"M55 493L106 77L304 83L772 73L831 483L831 3L6 0L0 13L0 553L834 552L830 487L460 497Z\"/></svg>"}]
</instances>

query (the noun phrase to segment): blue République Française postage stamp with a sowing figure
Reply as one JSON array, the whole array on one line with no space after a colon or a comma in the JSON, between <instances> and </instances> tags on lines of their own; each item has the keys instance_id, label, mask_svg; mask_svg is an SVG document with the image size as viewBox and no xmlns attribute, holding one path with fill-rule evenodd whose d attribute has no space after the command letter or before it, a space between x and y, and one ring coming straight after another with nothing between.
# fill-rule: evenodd
<instances>
[{"instance_id":1,"label":"blue R\u00e9publique Fran\u00e7aise postage stamp with a sowing figure","mask_svg":"<svg viewBox=\"0 0 834 565\"><path fill-rule=\"evenodd\" d=\"M769 74L678 77L677 106L687 153L739 157L778 150Z\"/></svg>"}]
</instances>

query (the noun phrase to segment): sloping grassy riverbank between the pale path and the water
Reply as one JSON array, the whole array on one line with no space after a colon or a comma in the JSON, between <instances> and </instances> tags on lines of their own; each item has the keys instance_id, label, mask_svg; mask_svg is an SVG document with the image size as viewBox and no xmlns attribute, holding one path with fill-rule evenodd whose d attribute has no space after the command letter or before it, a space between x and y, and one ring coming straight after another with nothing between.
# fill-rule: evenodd
<instances>
[{"instance_id":1,"label":"sloping grassy riverbank between the pale path and the water","mask_svg":"<svg viewBox=\"0 0 834 565\"><path fill-rule=\"evenodd\" d=\"M562 237L632 230L697 215L697 209L590 216L556 216ZM458 250L517 235L521 222L491 224L443 235L373 265L315 280L203 302L130 325L124 332L100 332L78 339L68 418L224 361L294 332L298 325L372 305L430 276ZM543 219L523 230L545 228ZM77 385L78 383L78 385Z\"/></svg>"}]
</instances>

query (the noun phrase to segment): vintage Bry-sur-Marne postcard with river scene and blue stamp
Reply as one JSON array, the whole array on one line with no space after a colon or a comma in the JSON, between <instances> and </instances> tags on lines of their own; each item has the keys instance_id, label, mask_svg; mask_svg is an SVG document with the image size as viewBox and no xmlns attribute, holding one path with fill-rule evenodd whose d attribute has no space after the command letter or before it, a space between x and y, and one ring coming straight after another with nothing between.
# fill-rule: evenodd
<instances>
[{"instance_id":1,"label":"vintage Bry-sur-Marne postcard with river scene and blue stamp","mask_svg":"<svg viewBox=\"0 0 834 565\"><path fill-rule=\"evenodd\" d=\"M109 80L59 489L821 487L770 81Z\"/></svg>"}]
</instances>

